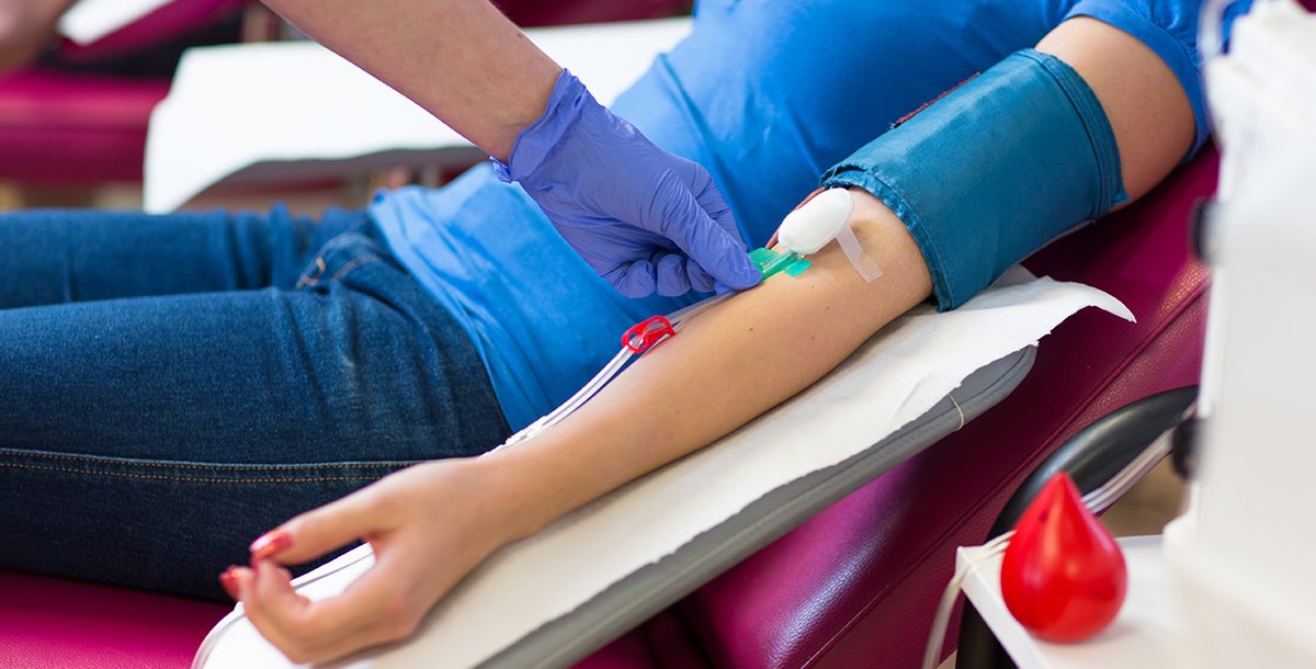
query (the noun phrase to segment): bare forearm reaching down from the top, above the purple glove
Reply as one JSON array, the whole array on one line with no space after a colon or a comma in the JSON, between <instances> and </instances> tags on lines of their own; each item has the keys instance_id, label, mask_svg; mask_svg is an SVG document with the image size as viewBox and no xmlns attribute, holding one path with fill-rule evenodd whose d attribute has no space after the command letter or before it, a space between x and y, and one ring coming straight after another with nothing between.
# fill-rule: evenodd
<instances>
[{"instance_id":1,"label":"bare forearm reaching down from the top, above the purple glove","mask_svg":"<svg viewBox=\"0 0 1316 669\"><path fill-rule=\"evenodd\" d=\"M488 0L265 3L501 161L562 71Z\"/></svg>"}]
</instances>

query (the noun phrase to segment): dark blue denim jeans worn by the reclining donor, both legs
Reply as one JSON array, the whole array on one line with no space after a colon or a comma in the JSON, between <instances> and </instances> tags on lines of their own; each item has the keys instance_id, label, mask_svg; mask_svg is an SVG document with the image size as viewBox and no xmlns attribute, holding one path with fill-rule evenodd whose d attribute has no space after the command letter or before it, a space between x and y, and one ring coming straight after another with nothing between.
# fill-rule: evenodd
<instances>
[{"instance_id":1,"label":"dark blue denim jeans worn by the reclining donor, both legs","mask_svg":"<svg viewBox=\"0 0 1316 669\"><path fill-rule=\"evenodd\" d=\"M222 597L291 515L509 433L362 212L0 216L0 566Z\"/></svg>"}]
</instances>

